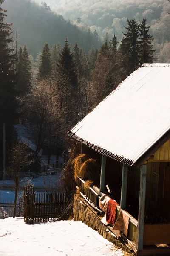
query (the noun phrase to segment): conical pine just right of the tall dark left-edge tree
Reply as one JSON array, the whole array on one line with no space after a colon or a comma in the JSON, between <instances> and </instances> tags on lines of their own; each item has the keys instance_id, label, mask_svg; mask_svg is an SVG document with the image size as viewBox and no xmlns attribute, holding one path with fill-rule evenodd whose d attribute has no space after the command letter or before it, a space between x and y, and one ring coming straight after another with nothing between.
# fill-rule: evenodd
<instances>
[{"instance_id":1,"label":"conical pine just right of the tall dark left-edge tree","mask_svg":"<svg viewBox=\"0 0 170 256\"><path fill-rule=\"evenodd\" d=\"M17 62L17 92L20 96L26 95L31 89L31 62L26 44L20 47Z\"/></svg>"}]
</instances>

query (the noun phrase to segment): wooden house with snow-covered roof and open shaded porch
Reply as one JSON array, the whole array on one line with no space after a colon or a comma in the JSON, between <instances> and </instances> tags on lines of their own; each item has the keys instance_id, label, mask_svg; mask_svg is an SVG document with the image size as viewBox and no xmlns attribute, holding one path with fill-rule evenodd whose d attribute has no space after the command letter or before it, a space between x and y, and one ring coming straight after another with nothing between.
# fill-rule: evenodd
<instances>
[{"instance_id":1,"label":"wooden house with snow-covered roof and open shaded porch","mask_svg":"<svg viewBox=\"0 0 170 256\"><path fill-rule=\"evenodd\" d=\"M170 64L144 64L68 135L101 160L91 204L109 184L136 255L170 253Z\"/></svg>"}]
</instances>

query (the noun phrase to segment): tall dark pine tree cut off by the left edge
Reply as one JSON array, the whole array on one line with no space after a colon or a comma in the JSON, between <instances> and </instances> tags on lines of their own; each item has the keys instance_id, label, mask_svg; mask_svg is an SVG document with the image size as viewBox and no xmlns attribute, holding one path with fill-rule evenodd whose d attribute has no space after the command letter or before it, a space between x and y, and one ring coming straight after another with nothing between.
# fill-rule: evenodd
<instances>
[{"instance_id":1,"label":"tall dark pine tree cut off by the left edge","mask_svg":"<svg viewBox=\"0 0 170 256\"><path fill-rule=\"evenodd\" d=\"M6 149L12 143L13 125L17 120L17 101L15 93L16 75L14 63L16 56L14 49L9 47L13 42L11 37L11 25L5 23L7 16L6 10L1 8L4 0L0 0L0 133L2 134L2 123L6 123ZM0 138L0 148L2 148L2 137ZM0 155L0 163L2 163L2 154Z\"/></svg>"}]
</instances>

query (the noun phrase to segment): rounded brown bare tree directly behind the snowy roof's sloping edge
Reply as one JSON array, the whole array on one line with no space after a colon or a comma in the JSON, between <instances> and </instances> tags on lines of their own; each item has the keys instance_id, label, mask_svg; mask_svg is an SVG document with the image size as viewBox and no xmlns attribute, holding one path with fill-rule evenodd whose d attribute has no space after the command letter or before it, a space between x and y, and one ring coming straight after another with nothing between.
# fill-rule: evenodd
<instances>
[{"instance_id":1,"label":"rounded brown bare tree directly behind the snowy roof's sloping edge","mask_svg":"<svg viewBox=\"0 0 170 256\"><path fill-rule=\"evenodd\" d=\"M111 47L99 53L96 66L91 73L91 105L95 107L122 82L126 74L124 58L121 53L112 51Z\"/></svg>"}]
</instances>

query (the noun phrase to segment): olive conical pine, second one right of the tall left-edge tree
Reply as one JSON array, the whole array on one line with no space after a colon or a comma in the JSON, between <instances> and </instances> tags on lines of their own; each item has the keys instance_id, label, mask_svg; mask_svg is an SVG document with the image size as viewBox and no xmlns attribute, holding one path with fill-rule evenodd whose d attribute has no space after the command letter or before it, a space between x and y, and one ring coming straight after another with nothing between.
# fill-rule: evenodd
<instances>
[{"instance_id":1,"label":"olive conical pine, second one right of the tall left-edge tree","mask_svg":"<svg viewBox=\"0 0 170 256\"><path fill-rule=\"evenodd\" d=\"M44 44L40 54L38 79L44 79L51 73L51 52L47 43Z\"/></svg>"}]
</instances>

